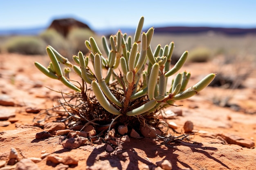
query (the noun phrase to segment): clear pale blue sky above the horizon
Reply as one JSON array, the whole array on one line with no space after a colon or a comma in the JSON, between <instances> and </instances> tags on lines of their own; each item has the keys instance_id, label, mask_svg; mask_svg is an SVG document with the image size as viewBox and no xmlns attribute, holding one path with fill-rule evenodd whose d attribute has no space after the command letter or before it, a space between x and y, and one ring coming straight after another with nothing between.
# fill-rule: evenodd
<instances>
[{"instance_id":1,"label":"clear pale blue sky above the horizon","mask_svg":"<svg viewBox=\"0 0 256 170\"><path fill-rule=\"evenodd\" d=\"M48 26L73 17L92 29L144 26L256 27L256 0L2 0L0 29Z\"/></svg>"}]
</instances>

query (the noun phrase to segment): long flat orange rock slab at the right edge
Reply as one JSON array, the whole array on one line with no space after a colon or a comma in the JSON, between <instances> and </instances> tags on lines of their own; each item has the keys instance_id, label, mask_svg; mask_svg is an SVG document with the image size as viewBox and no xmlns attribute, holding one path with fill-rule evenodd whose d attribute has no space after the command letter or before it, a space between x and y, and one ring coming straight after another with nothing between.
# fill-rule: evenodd
<instances>
[{"instance_id":1,"label":"long flat orange rock slab at the right edge","mask_svg":"<svg viewBox=\"0 0 256 170\"><path fill-rule=\"evenodd\" d=\"M244 139L243 137L233 135L230 133L218 134L217 136L222 137L227 141L228 144L235 144L246 148L252 148L255 146L254 141L250 139Z\"/></svg>"}]
</instances>

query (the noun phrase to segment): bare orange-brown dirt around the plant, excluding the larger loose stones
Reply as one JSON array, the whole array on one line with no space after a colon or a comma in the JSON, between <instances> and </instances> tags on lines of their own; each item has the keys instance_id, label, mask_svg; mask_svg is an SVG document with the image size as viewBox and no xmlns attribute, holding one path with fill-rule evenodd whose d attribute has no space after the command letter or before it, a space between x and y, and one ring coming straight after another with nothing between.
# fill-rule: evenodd
<instances>
[{"instance_id":1,"label":"bare orange-brown dirt around the plant, excluding the larger loose stones","mask_svg":"<svg viewBox=\"0 0 256 170\"><path fill-rule=\"evenodd\" d=\"M122 145L119 154L108 153L106 146L86 145L74 150L67 150L58 143L58 138L36 140L35 135L42 129L32 126L34 116L37 114L26 113L26 108L51 108L54 98L61 97L59 93L50 91L45 86L69 92L57 80L52 80L40 73L34 66L34 61L44 65L49 63L46 56L23 56L16 54L0 54L0 95L8 95L16 106L0 106L0 110L14 112L15 123L0 127L0 160L8 161L11 148L16 148L18 158L41 157L42 151L59 156L69 155L79 162L77 165L64 169L154 169L156 162L167 159L171 161L173 170L256 170L255 148L245 148L237 144L225 144L221 134L238 135L243 139L256 141L256 77L247 79L245 88L235 91L221 88L207 87L200 94L181 102L183 116L177 116L174 121L178 132L182 132L185 121L194 124L194 130L201 133L191 135L192 141L199 144L188 146L175 144L178 149L161 145L159 140L144 138L132 139ZM212 63L189 64L181 71L191 71L190 85L201 77L211 73ZM255 71L254 71L255 72ZM42 86L40 86L42 85ZM213 97L223 98L232 94L231 104L237 104L242 109L239 111L213 105ZM19 105L19 106L17 106ZM170 107L167 109L173 109ZM207 131L206 134L202 133ZM219 134L219 135L218 135ZM180 135L180 134L175 134ZM61 170L63 167L47 161L46 158L36 163L41 170ZM148 167L148 168L146 168ZM157 167L160 169L159 167Z\"/></svg>"}]
</instances>

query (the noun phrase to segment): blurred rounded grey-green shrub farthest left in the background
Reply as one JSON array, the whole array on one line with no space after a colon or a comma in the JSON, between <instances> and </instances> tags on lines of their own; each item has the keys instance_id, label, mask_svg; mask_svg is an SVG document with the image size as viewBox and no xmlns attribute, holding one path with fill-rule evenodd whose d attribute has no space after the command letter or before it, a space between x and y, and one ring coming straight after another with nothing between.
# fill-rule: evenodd
<instances>
[{"instance_id":1,"label":"blurred rounded grey-green shrub farthest left in the background","mask_svg":"<svg viewBox=\"0 0 256 170\"><path fill-rule=\"evenodd\" d=\"M34 36L12 37L4 44L4 49L9 53L20 53L25 55L43 55L45 42Z\"/></svg>"}]
</instances>

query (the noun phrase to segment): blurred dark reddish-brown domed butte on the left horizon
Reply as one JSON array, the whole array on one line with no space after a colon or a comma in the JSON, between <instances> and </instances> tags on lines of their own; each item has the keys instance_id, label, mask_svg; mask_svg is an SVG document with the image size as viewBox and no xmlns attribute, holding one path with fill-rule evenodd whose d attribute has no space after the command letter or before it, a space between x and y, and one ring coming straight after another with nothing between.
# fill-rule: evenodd
<instances>
[{"instance_id":1,"label":"blurred dark reddish-brown domed butte on the left horizon","mask_svg":"<svg viewBox=\"0 0 256 170\"><path fill-rule=\"evenodd\" d=\"M78 20L75 20L74 18L63 18L63 19L53 20L52 24L48 27L48 29L55 29L58 33L62 34L64 37L67 37L68 33L74 28L90 29L90 27L87 24L80 22Z\"/></svg>"}]
</instances>

